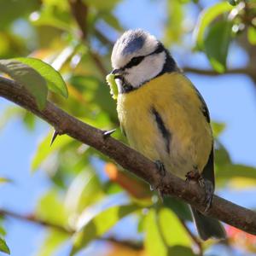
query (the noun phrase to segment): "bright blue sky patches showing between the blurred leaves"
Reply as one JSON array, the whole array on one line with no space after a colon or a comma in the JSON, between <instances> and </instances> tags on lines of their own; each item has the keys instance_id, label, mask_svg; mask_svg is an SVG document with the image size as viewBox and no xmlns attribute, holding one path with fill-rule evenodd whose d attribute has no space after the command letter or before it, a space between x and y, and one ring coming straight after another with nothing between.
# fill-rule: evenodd
<instances>
[{"instance_id":1,"label":"bright blue sky patches showing between the blurred leaves","mask_svg":"<svg viewBox=\"0 0 256 256\"><path fill-rule=\"evenodd\" d=\"M118 6L115 14L126 28L141 27L160 37L162 22L165 20L163 16L165 6L164 1L160 1L160 5L156 2L150 1L148 4L146 0L126 0ZM174 53L174 56L176 55L180 64L189 62L189 65L208 67L204 55L188 56L188 58L180 52ZM233 46L229 57L230 66L237 67L246 60L247 56ZM226 123L221 141L228 148L232 160L236 163L256 166L256 95L252 81L242 75L224 75L215 78L195 74L188 76L204 96L212 119ZM0 98L0 113L9 104L11 103ZM13 119L0 131L0 176L14 180L13 184L0 186L2 195L0 207L20 213L31 212L38 196L42 195L49 186L44 172L35 174L30 172L32 154L37 148L40 137L43 137L48 129L48 125L40 122L36 131L29 132L20 120ZM251 196L255 195L255 190L253 194L251 190L244 193L222 191L221 195L247 207L256 207ZM6 229L9 230L7 241L13 256L33 255L44 236L43 230L38 225L12 218L6 223Z\"/></svg>"}]
</instances>

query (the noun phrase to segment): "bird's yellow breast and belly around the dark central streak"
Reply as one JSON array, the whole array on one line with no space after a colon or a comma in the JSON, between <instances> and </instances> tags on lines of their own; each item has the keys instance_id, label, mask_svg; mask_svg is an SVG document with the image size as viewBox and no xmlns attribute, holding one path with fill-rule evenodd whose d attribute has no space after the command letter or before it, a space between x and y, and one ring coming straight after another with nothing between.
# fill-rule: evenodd
<instances>
[{"instance_id":1,"label":"bird's yellow breast and belly around the dark central streak","mask_svg":"<svg viewBox=\"0 0 256 256\"><path fill-rule=\"evenodd\" d=\"M212 131L195 88L181 73L166 73L137 90L118 96L117 110L132 148L161 160L179 177L207 164ZM155 109L170 131L170 152L156 123Z\"/></svg>"}]
</instances>

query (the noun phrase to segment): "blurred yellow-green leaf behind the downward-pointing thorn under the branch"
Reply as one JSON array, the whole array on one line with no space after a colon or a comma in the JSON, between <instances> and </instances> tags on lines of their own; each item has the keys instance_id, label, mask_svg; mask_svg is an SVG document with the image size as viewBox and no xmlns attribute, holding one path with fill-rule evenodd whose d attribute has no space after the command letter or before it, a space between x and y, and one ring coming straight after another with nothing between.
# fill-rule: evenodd
<instances>
[{"instance_id":1,"label":"blurred yellow-green leaf behind the downward-pointing thorn under the branch","mask_svg":"<svg viewBox=\"0 0 256 256\"><path fill-rule=\"evenodd\" d=\"M50 146L52 133L53 132L49 132L49 134L44 137L42 142L38 144L36 154L32 158L32 172L36 171L50 154L53 154L61 147L67 145L67 143L70 143L72 141L71 137L68 137L67 135L62 135L57 137L55 139L55 143Z\"/></svg>"}]
</instances>

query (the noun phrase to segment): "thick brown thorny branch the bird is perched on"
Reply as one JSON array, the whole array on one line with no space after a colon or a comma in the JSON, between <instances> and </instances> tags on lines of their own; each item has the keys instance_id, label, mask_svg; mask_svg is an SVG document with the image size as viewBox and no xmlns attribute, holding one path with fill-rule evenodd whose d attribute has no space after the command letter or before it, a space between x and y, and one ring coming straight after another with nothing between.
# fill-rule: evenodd
<instances>
[{"instance_id":1,"label":"thick brown thorny branch the bird is perched on","mask_svg":"<svg viewBox=\"0 0 256 256\"><path fill-rule=\"evenodd\" d=\"M166 176L162 178L154 163L142 154L112 137L104 137L103 131L75 119L60 108L55 107L51 102L47 102L44 110L40 111L33 97L15 81L0 78L0 96L44 119L53 125L59 134L67 134L81 143L96 148L152 186L160 186L166 195L176 196L199 211L204 211L205 207L202 205L203 189L193 183L186 183L170 172L167 172ZM205 214L256 235L256 212L237 206L217 195L213 195L212 207Z\"/></svg>"}]
</instances>

